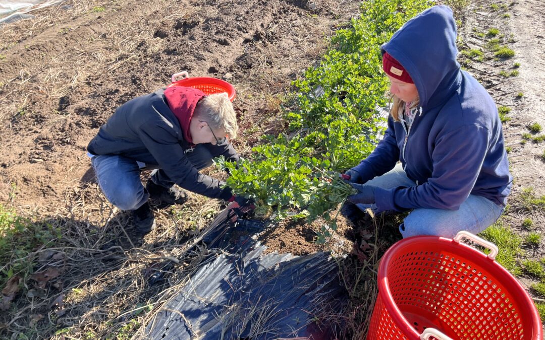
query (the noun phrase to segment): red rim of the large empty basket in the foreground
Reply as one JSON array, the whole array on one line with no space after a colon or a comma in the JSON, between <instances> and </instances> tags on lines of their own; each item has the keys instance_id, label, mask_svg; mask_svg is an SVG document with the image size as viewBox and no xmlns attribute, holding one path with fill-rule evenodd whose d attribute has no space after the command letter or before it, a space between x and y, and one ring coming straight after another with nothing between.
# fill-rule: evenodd
<instances>
[{"instance_id":1,"label":"red rim of the large empty basket in the foreground","mask_svg":"<svg viewBox=\"0 0 545 340\"><path fill-rule=\"evenodd\" d=\"M407 251L413 247L414 251L422 251L425 249L425 243L437 243L441 244L441 249L456 249L457 252L461 255L466 255L464 258L471 258L471 262L474 263L483 263L486 265L486 269L494 277L501 278L501 283L506 286L506 289L517 297L517 301L526 306L524 311L521 311L521 318L528 320L530 318L530 323L532 326L532 339L541 339L542 334L542 325L539 314L537 313L537 308L535 307L534 302L531 300L526 289L517 281L517 279L502 267L498 262L490 259L483 252L463 243L457 243L450 238L439 237L439 236L413 236L408 237L402 240L399 240L393 244L380 259L379 270L377 275L378 282L378 295L379 298L383 301L383 305L386 308L386 311L389 313L393 322L401 330L401 332L407 336L409 339L420 339L420 334L411 326L407 319L403 317L403 314L393 301L393 297L390 291L389 280L386 275L388 264L391 262L392 258L399 254L399 252ZM415 248L417 245L417 248ZM524 313L526 312L526 313ZM528 313L529 312L529 313Z\"/></svg>"}]
</instances>

